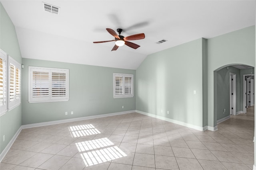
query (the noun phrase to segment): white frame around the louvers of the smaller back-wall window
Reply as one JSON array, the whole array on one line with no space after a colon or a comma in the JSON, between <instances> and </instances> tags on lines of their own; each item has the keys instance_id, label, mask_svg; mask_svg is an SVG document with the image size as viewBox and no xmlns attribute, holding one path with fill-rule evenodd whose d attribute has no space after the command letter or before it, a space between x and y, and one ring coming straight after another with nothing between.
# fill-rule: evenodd
<instances>
[{"instance_id":1,"label":"white frame around the louvers of the smaller back-wall window","mask_svg":"<svg viewBox=\"0 0 256 170\"><path fill-rule=\"evenodd\" d=\"M116 76L122 76L123 80L125 77L131 77L132 78L132 94L116 94L116 87L115 87L115 77ZM124 86L123 86L124 91ZM122 74L122 73L113 73L113 98L132 98L134 96L134 79L133 74Z\"/></svg>"}]
</instances>

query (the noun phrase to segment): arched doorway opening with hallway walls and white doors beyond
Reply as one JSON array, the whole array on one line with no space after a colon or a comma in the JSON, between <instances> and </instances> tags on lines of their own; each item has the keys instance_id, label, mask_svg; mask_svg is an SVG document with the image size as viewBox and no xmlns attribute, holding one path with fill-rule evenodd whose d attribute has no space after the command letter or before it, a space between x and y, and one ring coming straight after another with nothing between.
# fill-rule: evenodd
<instances>
[{"instance_id":1,"label":"arched doorway opening with hallway walls and white doors beyond","mask_svg":"<svg viewBox=\"0 0 256 170\"><path fill-rule=\"evenodd\" d=\"M214 119L217 124L229 119L230 115L246 113L244 105L247 108L254 106L252 104L254 102L253 81L254 67L252 66L229 64L214 70ZM250 92L249 97L248 92Z\"/></svg>"}]
</instances>

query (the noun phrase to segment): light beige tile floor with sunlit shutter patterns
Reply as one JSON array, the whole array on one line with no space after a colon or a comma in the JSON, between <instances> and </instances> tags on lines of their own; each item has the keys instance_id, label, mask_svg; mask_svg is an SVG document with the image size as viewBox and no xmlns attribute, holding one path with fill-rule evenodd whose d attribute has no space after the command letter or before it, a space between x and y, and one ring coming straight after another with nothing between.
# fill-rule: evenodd
<instances>
[{"instance_id":1,"label":"light beige tile floor with sunlit shutter patterns","mask_svg":"<svg viewBox=\"0 0 256 170\"><path fill-rule=\"evenodd\" d=\"M23 129L1 170L250 170L254 107L218 130L139 113Z\"/></svg>"}]
</instances>

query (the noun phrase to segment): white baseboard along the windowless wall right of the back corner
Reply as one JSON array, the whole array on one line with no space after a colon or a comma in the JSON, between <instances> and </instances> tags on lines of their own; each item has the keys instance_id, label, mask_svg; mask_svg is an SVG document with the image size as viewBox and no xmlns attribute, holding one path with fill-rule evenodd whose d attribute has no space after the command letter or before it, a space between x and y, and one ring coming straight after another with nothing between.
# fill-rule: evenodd
<instances>
[{"instance_id":1,"label":"white baseboard along the windowless wall right of the back corner","mask_svg":"<svg viewBox=\"0 0 256 170\"><path fill-rule=\"evenodd\" d=\"M186 127L192 128L192 129L196 129L198 131L204 131L204 127L192 125L192 124L185 123L185 122L182 122L182 121L177 121L177 120L170 119L170 118L167 118L167 117L162 117L162 116L154 115L154 114L151 114L151 113L146 113L144 111L136 110L136 112L140 113L140 114L143 114L143 115L150 116L150 117L155 117L157 119L165 120L165 121L168 121L168 122L171 122L171 123L175 123L175 124L178 124L178 125L186 126Z\"/></svg>"}]
</instances>

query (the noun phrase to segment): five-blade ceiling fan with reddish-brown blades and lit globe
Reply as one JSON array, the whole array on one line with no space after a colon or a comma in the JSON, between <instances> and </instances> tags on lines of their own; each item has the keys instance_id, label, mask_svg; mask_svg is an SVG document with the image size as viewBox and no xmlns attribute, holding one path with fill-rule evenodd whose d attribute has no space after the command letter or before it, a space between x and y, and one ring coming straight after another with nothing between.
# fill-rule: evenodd
<instances>
[{"instance_id":1,"label":"five-blade ceiling fan with reddish-brown blades and lit globe","mask_svg":"<svg viewBox=\"0 0 256 170\"><path fill-rule=\"evenodd\" d=\"M134 35L130 35L127 37L124 37L121 34L121 32L123 31L121 28L118 28L116 31L119 33L119 35L117 35L117 33L110 28L106 28L106 30L115 37L114 40L110 40L110 41L116 41L115 46L113 47L113 49L111 51L117 50L119 46L123 46L124 44L133 48L133 49L137 49L138 47L140 47L140 45L134 44L132 42L129 42L130 40L138 40L138 39L144 39L145 38L145 34L144 33L140 33L140 34L134 34ZM110 42L110 41L94 41L93 43L106 43L106 42Z\"/></svg>"}]
</instances>

